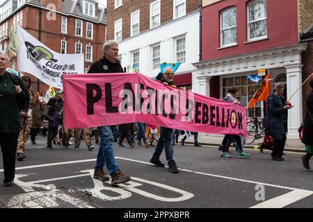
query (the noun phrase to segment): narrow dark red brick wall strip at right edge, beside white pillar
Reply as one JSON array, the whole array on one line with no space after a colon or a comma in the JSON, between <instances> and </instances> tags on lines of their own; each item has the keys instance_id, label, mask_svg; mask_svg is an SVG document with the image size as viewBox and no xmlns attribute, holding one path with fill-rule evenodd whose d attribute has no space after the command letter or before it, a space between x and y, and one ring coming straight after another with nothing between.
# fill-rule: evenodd
<instances>
[{"instance_id":1,"label":"narrow dark red brick wall strip at right edge, beside white pillar","mask_svg":"<svg viewBox=\"0 0 313 222\"><path fill-rule=\"evenodd\" d=\"M302 54L302 80L305 81L313 73L313 41L307 43L307 50ZM313 79L313 78L312 78ZM307 80L307 83L302 87L303 94L303 121L305 120L306 112L306 99L307 95L310 94L312 88L309 85L310 80Z\"/></svg>"}]
</instances>

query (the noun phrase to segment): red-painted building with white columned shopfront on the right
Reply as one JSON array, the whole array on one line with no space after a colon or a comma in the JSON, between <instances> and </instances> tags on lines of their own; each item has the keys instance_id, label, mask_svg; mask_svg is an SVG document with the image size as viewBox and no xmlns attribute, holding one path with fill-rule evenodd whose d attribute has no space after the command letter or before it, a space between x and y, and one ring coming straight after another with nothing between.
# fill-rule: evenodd
<instances>
[{"instance_id":1,"label":"red-painted building with white columned shopfront on the right","mask_svg":"<svg viewBox=\"0 0 313 222\"><path fill-rule=\"evenodd\" d=\"M310 73L310 44L299 34L312 24L312 1L204 0L202 8L202 62L195 92L218 99L235 85L242 105L247 105L257 85L247 80L266 69L275 83L285 85L287 99ZM312 61L312 60L311 60ZM312 69L311 69L312 70ZM303 122L306 89L300 89L289 110L288 137L298 137ZM263 118L264 103L249 109L249 117Z\"/></svg>"}]
</instances>

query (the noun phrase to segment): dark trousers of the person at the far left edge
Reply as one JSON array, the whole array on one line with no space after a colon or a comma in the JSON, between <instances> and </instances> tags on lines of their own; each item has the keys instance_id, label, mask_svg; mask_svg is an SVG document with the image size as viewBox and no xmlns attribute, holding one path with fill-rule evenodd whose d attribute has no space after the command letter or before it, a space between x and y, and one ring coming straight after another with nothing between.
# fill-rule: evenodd
<instances>
[{"instance_id":1,"label":"dark trousers of the person at the far left edge","mask_svg":"<svg viewBox=\"0 0 313 222\"><path fill-rule=\"evenodd\" d=\"M17 148L17 133L0 133L0 146L2 151L4 180L10 182L15 177L15 155Z\"/></svg>"}]
</instances>

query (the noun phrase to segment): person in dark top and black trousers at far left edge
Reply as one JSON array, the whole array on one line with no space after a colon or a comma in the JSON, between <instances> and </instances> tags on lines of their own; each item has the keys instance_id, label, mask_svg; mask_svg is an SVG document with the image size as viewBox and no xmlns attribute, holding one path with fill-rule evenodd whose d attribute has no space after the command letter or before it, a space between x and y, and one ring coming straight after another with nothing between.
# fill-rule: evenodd
<instances>
[{"instance_id":1,"label":"person in dark top and black trousers at far left edge","mask_svg":"<svg viewBox=\"0 0 313 222\"><path fill-rule=\"evenodd\" d=\"M14 185L17 138L22 130L19 111L29 103L27 88L19 76L6 71L8 56L0 51L0 146L4 186Z\"/></svg>"}]
</instances>

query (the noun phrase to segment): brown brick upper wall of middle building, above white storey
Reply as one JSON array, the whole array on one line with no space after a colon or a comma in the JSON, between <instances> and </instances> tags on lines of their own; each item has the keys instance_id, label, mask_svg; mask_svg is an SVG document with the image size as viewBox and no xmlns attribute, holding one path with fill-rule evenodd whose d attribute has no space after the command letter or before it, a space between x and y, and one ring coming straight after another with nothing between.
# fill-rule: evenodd
<instances>
[{"instance_id":1,"label":"brown brick upper wall of middle building, above white storey","mask_svg":"<svg viewBox=\"0 0 313 222\"><path fill-rule=\"evenodd\" d=\"M122 18L122 40L130 37L130 15L140 9L140 32L150 29L150 3L155 0L123 0L122 7L115 9L115 0L107 0L107 40L114 39L114 22ZM172 20L172 0L161 1L161 24ZM186 0L186 14L200 8L200 0Z\"/></svg>"}]
</instances>

